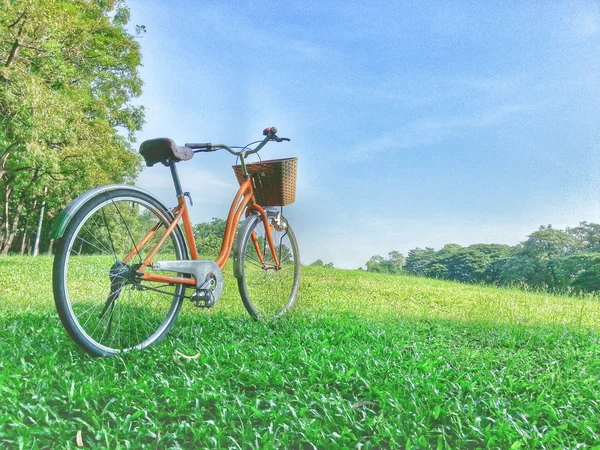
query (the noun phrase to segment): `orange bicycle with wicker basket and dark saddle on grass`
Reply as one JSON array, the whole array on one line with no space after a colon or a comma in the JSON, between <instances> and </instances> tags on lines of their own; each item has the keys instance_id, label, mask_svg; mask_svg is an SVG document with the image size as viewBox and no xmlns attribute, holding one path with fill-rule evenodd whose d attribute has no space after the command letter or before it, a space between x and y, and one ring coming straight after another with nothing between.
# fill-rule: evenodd
<instances>
[{"instance_id":1,"label":"orange bicycle with wicker basket and dark saddle on grass","mask_svg":"<svg viewBox=\"0 0 600 450\"><path fill-rule=\"evenodd\" d=\"M162 163L171 171L177 206L169 209L134 186L109 185L80 195L59 215L51 232L58 240L54 300L62 324L83 350L94 356L141 350L166 336L184 299L213 307L232 251L233 274L253 318L278 318L294 305L299 250L282 212L295 200L297 158L247 163L268 142L289 141L278 137L275 127L263 135L244 147L145 141L140 153L146 165ZM192 198L181 187L176 164L221 149L239 159L233 167L240 188L219 255L201 260L187 205ZM193 290L189 296L187 289Z\"/></svg>"}]
</instances>

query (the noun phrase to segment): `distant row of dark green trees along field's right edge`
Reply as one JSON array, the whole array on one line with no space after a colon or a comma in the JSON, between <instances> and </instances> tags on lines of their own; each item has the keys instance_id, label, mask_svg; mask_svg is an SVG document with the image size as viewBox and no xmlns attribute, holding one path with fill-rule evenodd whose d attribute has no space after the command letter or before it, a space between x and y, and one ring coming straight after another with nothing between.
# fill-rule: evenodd
<instances>
[{"instance_id":1,"label":"distant row of dark green trees along field's right edge","mask_svg":"<svg viewBox=\"0 0 600 450\"><path fill-rule=\"evenodd\" d=\"M367 270L409 273L463 283L521 285L551 291L600 291L600 224L581 222L564 230L541 226L515 246L447 244L414 248L404 258L373 256Z\"/></svg>"}]
</instances>

